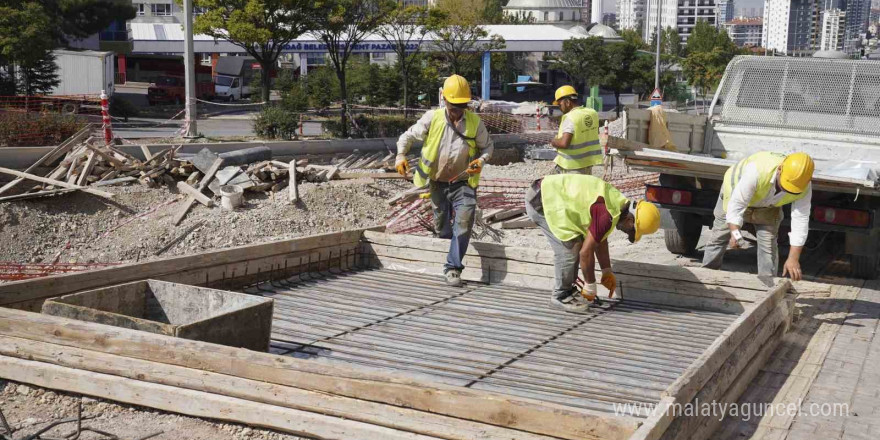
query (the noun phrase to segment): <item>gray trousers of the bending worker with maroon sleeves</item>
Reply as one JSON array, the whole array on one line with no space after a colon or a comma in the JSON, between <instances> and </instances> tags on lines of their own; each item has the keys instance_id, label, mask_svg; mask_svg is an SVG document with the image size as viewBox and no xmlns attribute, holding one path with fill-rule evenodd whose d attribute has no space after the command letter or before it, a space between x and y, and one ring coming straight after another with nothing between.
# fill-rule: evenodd
<instances>
[{"instance_id":1,"label":"gray trousers of the bending worker with maroon sleeves","mask_svg":"<svg viewBox=\"0 0 880 440\"><path fill-rule=\"evenodd\" d=\"M550 248L553 249L553 271L555 281L553 284L553 296L563 299L571 295L572 285L577 279L578 266L580 265L580 252L583 240L575 239L560 241L550 231L547 218L544 217L544 209L541 204L541 194L534 185L526 191L526 214L544 231Z\"/></svg>"}]
</instances>

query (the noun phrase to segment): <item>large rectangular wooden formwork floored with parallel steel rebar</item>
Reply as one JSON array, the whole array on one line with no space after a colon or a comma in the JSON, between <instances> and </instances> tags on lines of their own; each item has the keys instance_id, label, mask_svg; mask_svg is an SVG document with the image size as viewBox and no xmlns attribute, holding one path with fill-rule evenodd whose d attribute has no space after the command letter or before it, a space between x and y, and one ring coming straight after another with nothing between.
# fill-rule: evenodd
<instances>
[{"instance_id":1,"label":"large rectangular wooden formwork floored with parallel steel rebar","mask_svg":"<svg viewBox=\"0 0 880 440\"><path fill-rule=\"evenodd\" d=\"M710 438L674 407L736 401L791 317L788 281L623 261L622 301L566 314L549 251L473 243L453 289L447 246L354 230L3 285L0 377L319 438ZM27 312L145 279L271 298L269 352Z\"/></svg>"}]
</instances>

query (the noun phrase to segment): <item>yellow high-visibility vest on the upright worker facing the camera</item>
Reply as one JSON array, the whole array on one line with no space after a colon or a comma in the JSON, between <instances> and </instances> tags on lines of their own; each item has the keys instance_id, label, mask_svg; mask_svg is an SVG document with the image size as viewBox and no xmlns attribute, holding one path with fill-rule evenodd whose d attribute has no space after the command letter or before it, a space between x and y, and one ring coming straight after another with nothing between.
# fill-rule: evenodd
<instances>
[{"instance_id":1,"label":"yellow high-visibility vest on the upright worker facing the camera","mask_svg":"<svg viewBox=\"0 0 880 440\"><path fill-rule=\"evenodd\" d=\"M437 173L437 158L440 156L440 139L443 137L443 131L446 128L446 109L434 110L434 117L431 119L431 126L428 127L428 137L422 145L422 157L416 165L416 172L413 174L413 183L418 188L424 188L434 180ZM468 163L479 157L477 142L474 138L477 136L477 126L480 124L480 117L476 114L465 110L464 112L464 136L468 143ZM480 184L480 173L471 174L468 177L468 186L476 188Z\"/></svg>"}]
</instances>

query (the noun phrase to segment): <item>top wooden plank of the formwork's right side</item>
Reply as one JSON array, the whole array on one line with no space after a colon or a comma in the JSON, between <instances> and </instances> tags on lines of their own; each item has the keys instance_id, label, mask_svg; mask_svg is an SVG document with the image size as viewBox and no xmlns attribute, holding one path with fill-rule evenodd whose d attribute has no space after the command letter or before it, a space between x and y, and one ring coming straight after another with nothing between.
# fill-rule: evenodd
<instances>
[{"instance_id":1,"label":"top wooden plank of the formwork's right side","mask_svg":"<svg viewBox=\"0 0 880 440\"><path fill-rule=\"evenodd\" d=\"M740 315L715 342L707 348L690 367L664 391L663 396L671 396L678 402L689 402L715 374L720 366L739 347L755 327L782 302L791 286L783 281L759 300L750 310Z\"/></svg>"}]
</instances>

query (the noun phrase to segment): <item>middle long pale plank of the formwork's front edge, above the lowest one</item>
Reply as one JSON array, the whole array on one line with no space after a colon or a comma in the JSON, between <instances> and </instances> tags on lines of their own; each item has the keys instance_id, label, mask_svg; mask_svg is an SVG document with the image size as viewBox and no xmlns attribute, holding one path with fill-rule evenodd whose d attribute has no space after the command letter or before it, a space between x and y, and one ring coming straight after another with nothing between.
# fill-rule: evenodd
<instances>
[{"instance_id":1,"label":"middle long pale plank of the formwork's front edge, above the lowest one","mask_svg":"<svg viewBox=\"0 0 880 440\"><path fill-rule=\"evenodd\" d=\"M0 354L278 407L342 417L444 439L470 440L480 437L494 439L509 436L523 440L545 438L423 411L27 339L0 336ZM317 433L309 434L315 435Z\"/></svg>"}]
</instances>

